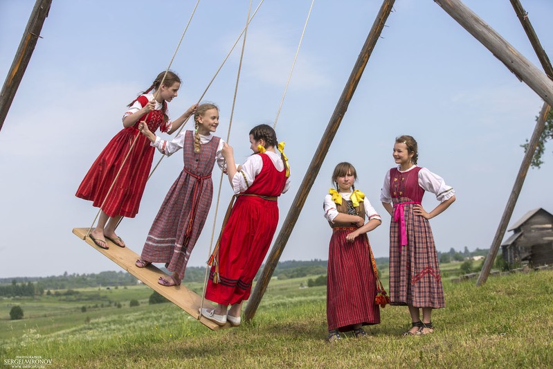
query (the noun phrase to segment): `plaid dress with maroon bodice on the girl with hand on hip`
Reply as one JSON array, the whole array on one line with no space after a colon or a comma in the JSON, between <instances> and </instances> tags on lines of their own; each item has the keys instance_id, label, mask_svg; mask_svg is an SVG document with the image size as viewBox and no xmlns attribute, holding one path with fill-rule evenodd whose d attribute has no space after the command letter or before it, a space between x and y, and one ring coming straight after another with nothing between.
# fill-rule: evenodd
<instances>
[{"instance_id":1,"label":"plaid dress with maroon bodice on the girl with hand on hip","mask_svg":"<svg viewBox=\"0 0 553 369\"><path fill-rule=\"evenodd\" d=\"M422 201L420 167L408 172L390 169L390 195L394 206ZM445 307L442 276L428 219L415 215L405 204L407 244L401 246L399 222L390 222L390 305Z\"/></svg>"}]
</instances>

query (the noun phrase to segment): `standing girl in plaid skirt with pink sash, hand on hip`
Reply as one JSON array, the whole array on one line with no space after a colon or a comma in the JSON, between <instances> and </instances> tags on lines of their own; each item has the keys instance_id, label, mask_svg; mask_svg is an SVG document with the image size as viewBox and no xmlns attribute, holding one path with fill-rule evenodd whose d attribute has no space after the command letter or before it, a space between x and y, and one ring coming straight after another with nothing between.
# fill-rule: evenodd
<instances>
[{"instance_id":1,"label":"standing girl in plaid skirt with pink sash, hand on hip","mask_svg":"<svg viewBox=\"0 0 553 369\"><path fill-rule=\"evenodd\" d=\"M384 178L380 199L392 216L390 223L390 304L407 305L412 327L405 332L434 332L432 309L445 307L442 276L428 219L455 201L455 191L442 177L417 166L417 141L399 136L392 168ZM421 206L424 192L436 195L439 205L429 213ZM420 317L422 309L422 320Z\"/></svg>"}]
</instances>

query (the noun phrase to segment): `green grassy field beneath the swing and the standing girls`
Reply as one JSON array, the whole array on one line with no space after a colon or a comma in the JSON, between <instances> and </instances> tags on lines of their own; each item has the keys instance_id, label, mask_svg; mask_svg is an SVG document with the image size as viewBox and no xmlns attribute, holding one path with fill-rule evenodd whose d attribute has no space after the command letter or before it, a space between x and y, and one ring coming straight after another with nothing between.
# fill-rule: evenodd
<instances>
[{"instance_id":1,"label":"green grassy field beneath the swing and the standing girls","mask_svg":"<svg viewBox=\"0 0 553 369\"><path fill-rule=\"evenodd\" d=\"M553 366L553 271L492 277L483 287L444 280L447 307L433 314L434 334L401 336L406 307L386 307L368 338L346 334L334 344L325 340L325 287L300 289L307 279L271 281L253 321L218 332L170 303L148 305L143 286L83 289L80 300L6 298L0 358L38 356L52 359L51 368ZM129 307L132 298L140 306ZM9 320L12 305L24 319Z\"/></svg>"}]
</instances>

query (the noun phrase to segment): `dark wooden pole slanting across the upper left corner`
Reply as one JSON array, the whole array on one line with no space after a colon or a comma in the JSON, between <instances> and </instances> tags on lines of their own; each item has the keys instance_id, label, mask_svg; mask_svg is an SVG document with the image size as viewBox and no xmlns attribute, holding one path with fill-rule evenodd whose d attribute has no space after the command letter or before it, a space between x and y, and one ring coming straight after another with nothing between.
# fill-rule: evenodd
<instances>
[{"instance_id":1,"label":"dark wooden pole slanting across the upper left corner","mask_svg":"<svg viewBox=\"0 0 553 369\"><path fill-rule=\"evenodd\" d=\"M0 130L4 125L4 120L6 120L19 83L29 64L30 57L33 55L44 19L48 17L51 4L52 0L37 0L35 8L33 8L33 12L30 14L27 27L25 28L23 37L21 37L21 43L15 54L10 71L6 76L6 81L4 81L2 91L0 91Z\"/></svg>"}]
</instances>

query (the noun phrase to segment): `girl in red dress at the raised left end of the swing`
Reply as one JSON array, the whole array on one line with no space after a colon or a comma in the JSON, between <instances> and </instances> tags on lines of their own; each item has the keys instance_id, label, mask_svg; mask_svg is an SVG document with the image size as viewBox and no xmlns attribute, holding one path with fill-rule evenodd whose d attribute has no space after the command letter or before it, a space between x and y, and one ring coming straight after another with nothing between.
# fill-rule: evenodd
<instances>
[{"instance_id":1,"label":"girl in red dress at the raised left end of the swing","mask_svg":"<svg viewBox=\"0 0 553 369\"><path fill-rule=\"evenodd\" d=\"M109 248L106 239L117 246L125 247L125 242L116 235L115 228L121 217L134 218L138 213L140 199L152 166L154 147L138 132L138 124L145 120L152 132L159 128L161 132L172 134L196 109L197 105L192 105L178 119L169 120L167 102L176 98L176 92L181 87L181 79L172 71L168 71L161 84L163 75L165 72L159 73L152 86L129 104L129 109L123 115L123 130L109 141L77 190L77 197L93 201L92 206L102 208L98 224L89 234L96 246L102 249ZM155 92L150 93L152 90ZM137 135L138 139L125 161ZM119 171L120 174L114 183Z\"/></svg>"}]
</instances>

